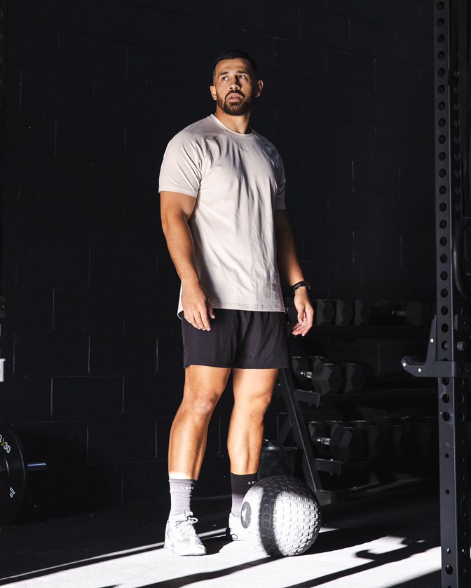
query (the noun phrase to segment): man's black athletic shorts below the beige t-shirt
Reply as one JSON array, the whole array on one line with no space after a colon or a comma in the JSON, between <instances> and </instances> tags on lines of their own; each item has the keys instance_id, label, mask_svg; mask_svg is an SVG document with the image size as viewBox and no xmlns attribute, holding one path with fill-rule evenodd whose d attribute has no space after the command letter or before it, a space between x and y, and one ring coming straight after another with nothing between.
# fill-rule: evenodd
<instances>
[{"instance_id":1,"label":"man's black athletic shorts below the beige t-shirt","mask_svg":"<svg viewBox=\"0 0 471 588\"><path fill-rule=\"evenodd\" d=\"M282 312L214 309L211 330L182 318L183 363L212 367L288 367L287 325Z\"/></svg>"}]
</instances>

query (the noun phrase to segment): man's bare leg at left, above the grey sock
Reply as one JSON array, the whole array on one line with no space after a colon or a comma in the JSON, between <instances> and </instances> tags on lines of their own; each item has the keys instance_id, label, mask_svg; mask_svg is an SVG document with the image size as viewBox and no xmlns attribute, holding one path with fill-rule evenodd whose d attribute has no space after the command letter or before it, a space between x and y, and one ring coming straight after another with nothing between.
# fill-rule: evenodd
<instances>
[{"instance_id":1,"label":"man's bare leg at left, above the grey sock","mask_svg":"<svg viewBox=\"0 0 471 588\"><path fill-rule=\"evenodd\" d=\"M169 477L198 479L206 449L207 427L230 372L228 367L207 365L186 368L182 404L170 430Z\"/></svg>"}]
</instances>

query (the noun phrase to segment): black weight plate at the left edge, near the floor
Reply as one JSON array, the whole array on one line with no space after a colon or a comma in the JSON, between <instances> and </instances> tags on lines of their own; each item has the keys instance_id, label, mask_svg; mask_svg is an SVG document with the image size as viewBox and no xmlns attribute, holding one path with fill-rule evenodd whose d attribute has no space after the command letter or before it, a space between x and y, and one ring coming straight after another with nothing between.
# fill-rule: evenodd
<instances>
[{"instance_id":1,"label":"black weight plate at the left edge, near the floor","mask_svg":"<svg viewBox=\"0 0 471 588\"><path fill-rule=\"evenodd\" d=\"M15 519L25 496L26 467L18 436L0 421L0 524Z\"/></svg>"}]
</instances>

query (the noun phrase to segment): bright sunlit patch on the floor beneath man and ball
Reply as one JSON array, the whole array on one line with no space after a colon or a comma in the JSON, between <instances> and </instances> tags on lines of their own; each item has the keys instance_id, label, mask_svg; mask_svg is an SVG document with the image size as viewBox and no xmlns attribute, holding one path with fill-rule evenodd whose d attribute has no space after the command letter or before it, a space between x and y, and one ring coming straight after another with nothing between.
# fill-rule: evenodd
<instances>
[{"instance_id":1,"label":"bright sunlit patch on the floor beneath man and ball","mask_svg":"<svg viewBox=\"0 0 471 588\"><path fill-rule=\"evenodd\" d=\"M220 530L205 533L212 541ZM323 529L327 533L330 530ZM69 564L20 579L12 588L392 588L440 567L439 547L386 536L346 549L271 559L245 542L202 557L172 556L154 546ZM150 549L150 550L149 550ZM315 551L315 550L314 550ZM62 566L63 567L63 566Z\"/></svg>"}]
</instances>

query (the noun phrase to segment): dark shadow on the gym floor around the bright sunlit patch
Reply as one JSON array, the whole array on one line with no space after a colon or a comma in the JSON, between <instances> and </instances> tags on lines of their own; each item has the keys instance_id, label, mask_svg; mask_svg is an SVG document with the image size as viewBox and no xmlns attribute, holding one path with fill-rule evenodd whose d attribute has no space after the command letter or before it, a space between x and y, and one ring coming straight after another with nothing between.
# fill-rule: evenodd
<instances>
[{"instance_id":1,"label":"dark shadow on the gym floor around the bright sunlit patch","mask_svg":"<svg viewBox=\"0 0 471 588\"><path fill-rule=\"evenodd\" d=\"M201 501L197 506L201 521L198 524L199 533L210 533L226 526L227 498ZM145 503L64 519L6 526L1 529L0 584L160 549L167 512L168 509L163 509L161 505ZM405 484L374 494L359 493L351 503L326 507L323 524L331 530L325 528L313 547L296 559L350 548L350 563L346 562L346 569L339 572L286 588L318 587L342 577L348 582L351 575L402 561L437 547L437 493L427 484ZM381 554L374 554L367 547L362 549L362 545L385 536L407 539L402 540L402 547ZM217 554L226 543L226 539L220 536L205 539L208 554ZM350 567L351 548L356 546L355 555L364 563ZM254 552L253 560L249 557L235 566L182 575L142 585L141 588L182 588L195 582L225 577L239 570L265 566L273 559L260 554L257 558L257 552ZM438 588L439 572L397 584L397 587Z\"/></svg>"}]
</instances>

